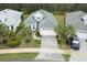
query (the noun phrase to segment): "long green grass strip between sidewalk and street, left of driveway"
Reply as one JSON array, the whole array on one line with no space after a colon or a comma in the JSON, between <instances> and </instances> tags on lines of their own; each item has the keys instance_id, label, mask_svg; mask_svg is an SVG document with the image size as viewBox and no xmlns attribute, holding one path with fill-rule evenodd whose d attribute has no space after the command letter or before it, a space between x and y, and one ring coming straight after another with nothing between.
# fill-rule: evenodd
<instances>
[{"instance_id":1,"label":"long green grass strip between sidewalk and street, left of driveway","mask_svg":"<svg viewBox=\"0 0 87 65\"><path fill-rule=\"evenodd\" d=\"M11 61L32 61L36 57L37 53L10 53L0 54L0 62L11 62Z\"/></svg>"}]
</instances>

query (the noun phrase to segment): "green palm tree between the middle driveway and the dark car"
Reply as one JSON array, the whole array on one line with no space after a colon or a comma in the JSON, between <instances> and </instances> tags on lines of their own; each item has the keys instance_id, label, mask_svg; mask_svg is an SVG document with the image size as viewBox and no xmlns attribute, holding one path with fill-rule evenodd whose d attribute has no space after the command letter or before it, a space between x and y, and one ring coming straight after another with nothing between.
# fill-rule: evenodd
<instances>
[{"instance_id":1,"label":"green palm tree between the middle driveway and the dark car","mask_svg":"<svg viewBox=\"0 0 87 65\"><path fill-rule=\"evenodd\" d=\"M56 28L56 33L58 34L58 37L57 37L57 41L58 41L58 44L61 46L64 46L66 45L66 42L67 42L67 36L73 36L75 35L75 29L73 25L63 25L63 24L59 24L57 28Z\"/></svg>"}]
</instances>

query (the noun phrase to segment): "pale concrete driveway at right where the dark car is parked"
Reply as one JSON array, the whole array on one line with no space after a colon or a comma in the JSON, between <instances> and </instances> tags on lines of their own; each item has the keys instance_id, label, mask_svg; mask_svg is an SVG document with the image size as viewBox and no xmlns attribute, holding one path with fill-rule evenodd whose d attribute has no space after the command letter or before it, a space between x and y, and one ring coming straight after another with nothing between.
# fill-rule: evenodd
<instances>
[{"instance_id":1,"label":"pale concrete driveway at right where the dark car is parked","mask_svg":"<svg viewBox=\"0 0 87 65\"><path fill-rule=\"evenodd\" d=\"M72 50L70 62L87 62L87 42L83 39L80 41L80 50Z\"/></svg>"}]
</instances>

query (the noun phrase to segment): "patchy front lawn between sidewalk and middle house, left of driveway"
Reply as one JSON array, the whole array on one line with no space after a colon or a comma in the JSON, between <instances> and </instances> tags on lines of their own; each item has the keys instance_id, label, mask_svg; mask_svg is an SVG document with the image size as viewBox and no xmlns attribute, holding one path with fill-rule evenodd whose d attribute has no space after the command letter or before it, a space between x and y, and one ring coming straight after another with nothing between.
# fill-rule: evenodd
<instances>
[{"instance_id":1,"label":"patchy front lawn between sidewalk and middle house, left of driveway","mask_svg":"<svg viewBox=\"0 0 87 65\"><path fill-rule=\"evenodd\" d=\"M20 32L21 33L21 32ZM21 42L21 44L18 46L19 48L20 47L28 47L28 48L39 48L40 46L41 46L41 41L40 40L34 40L33 37L32 37L32 35L30 35L29 37L28 37L28 40L29 40L29 42L25 42L25 40L26 39L23 39L23 41Z\"/></svg>"}]
</instances>

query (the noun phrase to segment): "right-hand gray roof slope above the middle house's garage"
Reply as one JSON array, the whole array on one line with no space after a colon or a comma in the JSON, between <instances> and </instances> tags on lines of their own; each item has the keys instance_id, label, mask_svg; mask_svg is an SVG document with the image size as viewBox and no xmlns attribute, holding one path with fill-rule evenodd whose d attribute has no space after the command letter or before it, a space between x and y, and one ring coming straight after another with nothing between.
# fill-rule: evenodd
<instances>
[{"instance_id":1,"label":"right-hand gray roof slope above the middle house's garage","mask_svg":"<svg viewBox=\"0 0 87 65\"><path fill-rule=\"evenodd\" d=\"M45 10L44 11L41 10L41 11L42 11L41 13L43 13L43 15L45 15L45 18L44 18L44 20L42 20L40 22L39 28L53 28L54 29L57 24L54 15Z\"/></svg>"}]
</instances>

